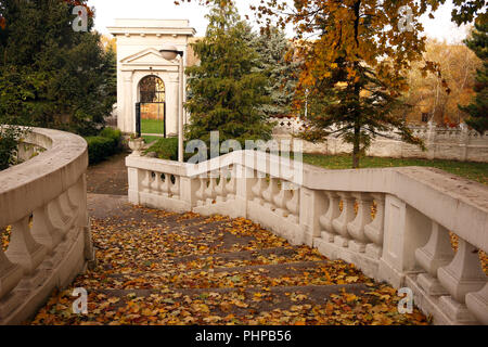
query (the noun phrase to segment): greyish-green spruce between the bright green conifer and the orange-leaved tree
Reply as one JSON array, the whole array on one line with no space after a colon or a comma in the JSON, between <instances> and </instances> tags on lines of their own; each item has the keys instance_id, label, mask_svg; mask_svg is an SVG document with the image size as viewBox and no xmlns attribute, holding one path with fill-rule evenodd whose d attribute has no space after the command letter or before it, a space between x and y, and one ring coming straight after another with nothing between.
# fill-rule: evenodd
<instances>
[{"instance_id":1,"label":"greyish-green spruce between the bright green conifer and the orange-leaved tree","mask_svg":"<svg viewBox=\"0 0 488 347\"><path fill-rule=\"evenodd\" d=\"M277 27L258 35L253 44L259 54L259 69L268 78L267 94L271 102L262 107L268 117L283 117L292 112L292 102L298 81L298 63L287 59L291 43Z\"/></svg>"}]
</instances>

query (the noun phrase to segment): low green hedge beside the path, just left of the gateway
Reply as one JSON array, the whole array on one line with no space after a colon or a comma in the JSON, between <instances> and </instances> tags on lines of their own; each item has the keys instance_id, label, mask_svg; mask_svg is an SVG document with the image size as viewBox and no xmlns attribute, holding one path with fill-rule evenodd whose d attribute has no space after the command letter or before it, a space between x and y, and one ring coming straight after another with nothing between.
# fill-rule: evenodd
<instances>
[{"instance_id":1,"label":"low green hedge beside the path, just left of the gateway","mask_svg":"<svg viewBox=\"0 0 488 347\"><path fill-rule=\"evenodd\" d=\"M106 157L114 155L120 150L121 131L112 128L103 129L98 137L88 137L88 156L90 165L103 162Z\"/></svg>"}]
</instances>

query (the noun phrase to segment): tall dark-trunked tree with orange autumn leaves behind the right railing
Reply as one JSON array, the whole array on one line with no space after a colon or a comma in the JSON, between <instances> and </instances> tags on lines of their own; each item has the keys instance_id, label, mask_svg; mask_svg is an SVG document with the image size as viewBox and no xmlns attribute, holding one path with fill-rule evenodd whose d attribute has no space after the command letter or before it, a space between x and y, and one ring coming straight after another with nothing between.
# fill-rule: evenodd
<instances>
[{"instance_id":1,"label":"tall dark-trunked tree with orange autumn leaves behind the right railing","mask_svg":"<svg viewBox=\"0 0 488 347\"><path fill-rule=\"evenodd\" d=\"M342 137L354 146L355 168L372 139L386 131L396 130L403 141L423 146L404 118L395 116L394 111L408 90L407 72L412 63L422 61L425 51L418 18L436 10L440 2L296 0L295 8L287 12L283 1L267 5L261 1L254 8L266 17L260 23L267 21L269 25L270 16L274 16L282 26L295 26L304 60L297 93L303 101L308 91L311 110L316 110L309 113L311 129L303 137L314 141L324 141L331 134ZM455 13L460 23L483 9L479 1L470 2L473 7ZM428 70L439 74L436 64L425 62L423 72Z\"/></svg>"}]
</instances>

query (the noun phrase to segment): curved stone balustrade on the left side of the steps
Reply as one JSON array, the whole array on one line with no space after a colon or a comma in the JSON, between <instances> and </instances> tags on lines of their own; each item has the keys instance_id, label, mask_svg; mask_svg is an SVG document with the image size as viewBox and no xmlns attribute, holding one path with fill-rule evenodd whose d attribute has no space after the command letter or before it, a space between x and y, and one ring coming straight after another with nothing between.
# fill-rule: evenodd
<instances>
[{"instance_id":1,"label":"curved stone balustrade on the left side of the steps","mask_svg":"<svg viewBox=\"0 0 488 347\"><path fill-rule=\"evenodd\" d=\"M87 215L87 142L34 128L24 140L27 162L0 171L0 324L18 324L54 288L68 285L93 260ZM39 154L34 158L31 149Z\"/></svg>"}]
</instances>

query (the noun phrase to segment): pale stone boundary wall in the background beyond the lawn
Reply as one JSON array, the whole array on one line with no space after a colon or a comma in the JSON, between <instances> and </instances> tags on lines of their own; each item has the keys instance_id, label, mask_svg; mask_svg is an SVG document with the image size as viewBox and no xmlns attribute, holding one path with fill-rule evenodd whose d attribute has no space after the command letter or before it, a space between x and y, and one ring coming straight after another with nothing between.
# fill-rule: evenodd
<instances>
[{"instance_id":1,"label":"pale stone boundary wall in the background beyond the lawn","mask_svg":"<svg viewBox=\"0 0 488 347\"><path fill-rule=\"evenodd\" d=\"M274 138L287 139L306 129L306 123L299 118L271 118L277 121ZM488 132L480 136L466 126L441 128L435 125L412 126L413 133L423 139L427 147L423 152L418 146L400 141L395 132L385 133L388 138L377 137L367 154L380 157L454 159L461 162L488 163ZM391 140L393 139L393 140ZM324 143L304 142L305 153L342 154L352 152L352 146L341 139L330 137Z\"/></svg>"}]
</instances>

